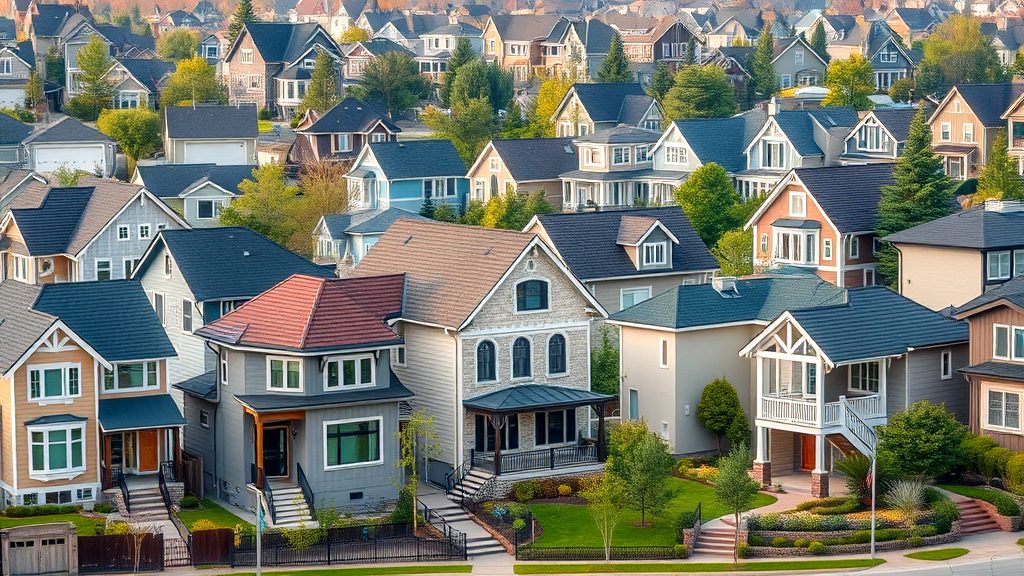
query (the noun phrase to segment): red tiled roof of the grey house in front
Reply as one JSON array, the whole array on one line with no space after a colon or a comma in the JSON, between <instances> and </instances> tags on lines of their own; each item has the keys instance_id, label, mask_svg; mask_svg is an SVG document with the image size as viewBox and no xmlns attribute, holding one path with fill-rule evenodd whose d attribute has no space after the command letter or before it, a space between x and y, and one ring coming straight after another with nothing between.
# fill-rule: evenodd
<instances>
[{"instance_id":1,"label":"red tiled roof of the grey house in front","mask_svg":"<svg viewBox=\"0 0 1024 576\"><path fill-rule=\"evenodd\" d=\"M230 345L295 352L401 343L387 320L401 314L404 280L294 275L196 333Z\"/></svg>"}]
</instances>

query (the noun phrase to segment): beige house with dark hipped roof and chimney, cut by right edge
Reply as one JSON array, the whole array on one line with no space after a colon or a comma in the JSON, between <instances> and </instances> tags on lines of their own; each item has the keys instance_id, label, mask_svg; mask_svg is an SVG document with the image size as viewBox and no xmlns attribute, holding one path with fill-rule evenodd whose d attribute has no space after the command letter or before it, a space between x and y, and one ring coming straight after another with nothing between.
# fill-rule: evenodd
<instances>
[{"instance_id":1,"label":"beige house with dark hipped roof and chimney, cut by right edge","mask_svg":"<svg viewBox=\"0 0 1024 576\"><path fill-rule=\"evenodd\" d=\"M887 236L899 291L932 310L961 306L1024 274L1024 202L981 206Z\"/></svg>"}]
</instances>

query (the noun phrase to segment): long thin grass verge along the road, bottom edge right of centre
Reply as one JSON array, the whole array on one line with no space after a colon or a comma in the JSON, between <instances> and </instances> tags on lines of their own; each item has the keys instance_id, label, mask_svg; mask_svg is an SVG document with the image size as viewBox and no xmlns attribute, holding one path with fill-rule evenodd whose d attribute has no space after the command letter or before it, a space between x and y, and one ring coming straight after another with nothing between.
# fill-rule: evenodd
<instances>
[{"instance_id":1,"label":"long thin grass verge along the road, bottom edge right of centre","mask_svg":"<svg viewBox=\"0 0 1024 576\"><path fill-rule=\"evenodd\" d=\"M693 563L693 564L517 564L516 574L597 574L644 572L775 572L794 570L838 570L874 568L885 564L880 559L792 560L772 562Z\"/></svg>"}]
</instances>

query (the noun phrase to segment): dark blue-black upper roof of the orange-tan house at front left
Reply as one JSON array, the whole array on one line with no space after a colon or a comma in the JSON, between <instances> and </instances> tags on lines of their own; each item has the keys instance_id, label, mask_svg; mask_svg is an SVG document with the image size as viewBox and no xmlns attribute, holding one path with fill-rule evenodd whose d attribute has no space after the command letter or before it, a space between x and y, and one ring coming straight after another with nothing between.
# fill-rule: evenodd
<instances>
[{"instance_id":1,"label":"dark blue-black upper roof of the orange-tan house at front left","mask_svg":"<svg viewBox=\"0 0 1024 576\"><path fill-rule=\"evenodd\" d=\"M59 318L109 362L177 356L138 281L47 284L33 307Z\"/></svg>"}]
</instances>

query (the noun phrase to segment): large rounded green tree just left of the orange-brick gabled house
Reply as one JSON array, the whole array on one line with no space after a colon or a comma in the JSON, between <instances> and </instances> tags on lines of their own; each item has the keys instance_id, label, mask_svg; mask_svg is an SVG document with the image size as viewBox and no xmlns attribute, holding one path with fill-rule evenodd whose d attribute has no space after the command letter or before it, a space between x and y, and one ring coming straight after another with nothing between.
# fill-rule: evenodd
<instances>
[{"instance_id":1,"label":"large rounded green tree just left of the orange-brick gabled house","mask_svg":"<svg viewBox=\"0 0 1024 576\"><path fill-rule=\"evenodd\" d=\"M736 228L735 206L739 195L725 168L714 162L700 166L675 193L676 204L683 209L700 240L714 246L726 231Z\"/></svg>"}]
</instances>

